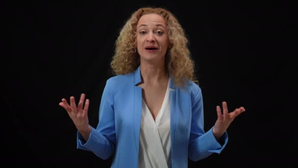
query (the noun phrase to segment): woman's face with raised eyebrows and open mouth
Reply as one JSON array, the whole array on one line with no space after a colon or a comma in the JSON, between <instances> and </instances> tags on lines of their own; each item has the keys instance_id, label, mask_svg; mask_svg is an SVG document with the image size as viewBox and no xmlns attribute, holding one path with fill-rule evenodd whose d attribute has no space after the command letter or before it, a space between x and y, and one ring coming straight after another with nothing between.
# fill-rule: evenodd
<instances>
[{"instance_id":1,"label":"woman's face with raised eyebrows and open mouth","mask_svg":"<svg viewBox=\"0 0 298 168\"><path fill-rule=\"evenodd\" d=\"M164 59L169 35L164 18L157 14L143 15L137 24L137 51L144 60Z\"/></svg>"}]
</instances>

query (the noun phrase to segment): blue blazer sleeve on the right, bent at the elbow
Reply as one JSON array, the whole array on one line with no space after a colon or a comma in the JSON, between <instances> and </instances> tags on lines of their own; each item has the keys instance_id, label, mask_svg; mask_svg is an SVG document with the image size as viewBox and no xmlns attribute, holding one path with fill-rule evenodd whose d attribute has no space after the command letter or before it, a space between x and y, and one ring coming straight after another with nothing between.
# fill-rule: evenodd
<instances>
[{"instance_id":1,"label":"blue blazer sleeve on the right, bent at the elbow","mask_svg":"<svg viewBox=\"0 0 298 168\"><path fill-rule=\"evenodd\" d=\"M213 127L207 132L204 132L203 99L201 90L199 89L194 99L192 98L192 119L188 150L190 160L199 161L210 156L212 153L221 153L224 149L228 140L227 133L224 133L222 137L224 144L221 145L212 133Z\"/></svg>"}]
</instances>

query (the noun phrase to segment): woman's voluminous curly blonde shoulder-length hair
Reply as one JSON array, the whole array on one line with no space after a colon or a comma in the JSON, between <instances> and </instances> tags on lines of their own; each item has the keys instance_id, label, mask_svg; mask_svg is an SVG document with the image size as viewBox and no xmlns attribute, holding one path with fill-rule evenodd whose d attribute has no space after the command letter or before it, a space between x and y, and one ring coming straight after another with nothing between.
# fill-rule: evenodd
<instances>
[{"instance_id":1,"label":"woman's voluminous curly blonde shoulder-length hair","mask_svg":"<svg viewBox=\"0 0 298 168\"><path fill-rule=\"evenodd\" d=\"M133 12L120 31L116 40L115 55L111 61L111 68L116 75L128 74L135 71L140 65L140 56L135 52L136 26L141 16L146 14L158 14L167 24L170 47L165 56L166 70L171 75L176 86L184 86L186 80L196 81L195 64L190 56L188 40L184 29L175 16L164 8L144 7ZM196 81L197 82L197 81Z\"/></svg>"}]
</instances>

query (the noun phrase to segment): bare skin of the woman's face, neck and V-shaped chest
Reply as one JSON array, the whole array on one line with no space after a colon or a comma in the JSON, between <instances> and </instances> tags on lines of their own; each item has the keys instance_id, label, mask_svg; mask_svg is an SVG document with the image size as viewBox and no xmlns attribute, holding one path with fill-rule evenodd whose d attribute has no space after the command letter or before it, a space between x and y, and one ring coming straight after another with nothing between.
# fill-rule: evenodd
<instances>
[{"instance_id":1,"label":"bare skin of the woman's face, neck and V-shaped chest","mask_svg":"<svg viewBox=\"0 0 298 168\"><path fill-rule=\"evenodd\" d=\"M167 25L157 14L143 15L137 24L137 51L140 55L143 100L155 120L167 91L169 75L165 55L169 47ZM147 50L151 46L154 51Z\"/></svg>"}]
</instances>

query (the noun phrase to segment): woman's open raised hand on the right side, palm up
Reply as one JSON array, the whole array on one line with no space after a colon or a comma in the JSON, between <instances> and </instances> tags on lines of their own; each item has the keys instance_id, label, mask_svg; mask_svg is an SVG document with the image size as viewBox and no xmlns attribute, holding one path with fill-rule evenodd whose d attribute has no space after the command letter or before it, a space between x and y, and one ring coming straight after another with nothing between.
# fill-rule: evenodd
<instances>
[{"instance_id":1,"label":"woman's open raised hand on the right side, palm up","mask_svg":"<svg viewBox=\"0 0 298 168\"><path fill-rule=\"evenodd\" d=\"M231 122L236 116L240 113L245 112L244 107L235 109L233 112L228 112L226 102L223 102L223 113L220 106L216 107L217 111L217 120L215 122L214 128L212 130L215 138L218 140L229 127Z\"/></svg>"}]
</instances>

